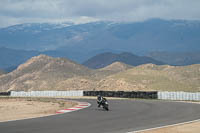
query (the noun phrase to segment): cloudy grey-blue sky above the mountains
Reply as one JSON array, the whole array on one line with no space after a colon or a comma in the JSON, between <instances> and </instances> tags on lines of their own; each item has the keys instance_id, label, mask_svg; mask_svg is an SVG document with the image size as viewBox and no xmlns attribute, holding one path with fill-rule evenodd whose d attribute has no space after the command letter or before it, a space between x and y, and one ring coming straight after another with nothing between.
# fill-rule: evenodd
<instances>
[{"instance_id":1,"label":"cloudy grey-blue sky above the mountains","mask_svg":"<svg viewBox=\"0 0 200 133\"><path fill-rule=\"evenodd\" d=\"M32 22L85 23L149 18L200 20L200 0L1 0L0 27Z\"/></svg>"}]
</instances>

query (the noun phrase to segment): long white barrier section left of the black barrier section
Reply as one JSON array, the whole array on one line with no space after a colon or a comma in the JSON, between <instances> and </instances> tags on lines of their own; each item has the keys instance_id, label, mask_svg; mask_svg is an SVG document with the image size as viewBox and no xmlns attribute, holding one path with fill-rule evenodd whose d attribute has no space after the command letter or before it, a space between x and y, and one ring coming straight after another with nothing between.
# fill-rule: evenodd
<instances>
[{"instance_id":1,"label":"long white barrier section left of the black barrier section","mask_svg":"<svg viewBox=\"0 0 200 133\"><path fill-rule=\"evenodd\" d=\"M11 91L12 97L65 97L83 96L83 91Z\"/></svg>"}]
</instances>

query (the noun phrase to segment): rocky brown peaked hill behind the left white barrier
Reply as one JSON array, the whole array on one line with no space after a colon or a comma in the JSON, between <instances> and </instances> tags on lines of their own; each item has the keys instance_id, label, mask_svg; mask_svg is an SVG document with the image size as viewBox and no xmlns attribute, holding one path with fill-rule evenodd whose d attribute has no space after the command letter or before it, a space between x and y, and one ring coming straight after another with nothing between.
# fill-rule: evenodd
<instances>
[{"instance_id":1,"label":"rocky brown peaked hill behind the left white barrier","mask_svg":"<svg viewBox=\"0 0 200 133\"><path fill-rule=\"evenodd\" d=\"M92 70L73 61L40 55L1 76L0 90L84 89L92 83L90 75Z\"/></svg>"}]
</instances>

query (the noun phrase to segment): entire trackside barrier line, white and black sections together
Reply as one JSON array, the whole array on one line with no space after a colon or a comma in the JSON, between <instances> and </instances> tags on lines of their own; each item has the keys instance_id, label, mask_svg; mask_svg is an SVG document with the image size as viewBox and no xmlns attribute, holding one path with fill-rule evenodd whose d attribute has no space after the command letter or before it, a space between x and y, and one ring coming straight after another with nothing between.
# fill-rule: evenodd
<instances>
[{"instance_id":1,"label":"entire trackside barrier line, white and black sections together","mask_svg":"<svg viewBox=\"0 0 200 133\"><path fill-rule=\"evenodd\" d=\"M13 97L65 97L65 96L97 96L144 98L160 100L200 101L200 92L141 92L141 91L11 91L2 92L1 95Z\"/></svg>"}]
</instances>

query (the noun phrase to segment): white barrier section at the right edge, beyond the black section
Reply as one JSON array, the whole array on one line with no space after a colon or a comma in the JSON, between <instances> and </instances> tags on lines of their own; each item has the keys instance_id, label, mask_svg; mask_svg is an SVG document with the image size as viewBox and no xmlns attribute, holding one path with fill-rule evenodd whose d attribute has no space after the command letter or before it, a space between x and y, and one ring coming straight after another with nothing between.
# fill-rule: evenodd
<instances>
[{"instance_id":1,"label":"white barrier section at the right edge, beyond the black section","mask_svg":"<svg viewBox=\"0 0 200 133\"><path fill-rule=\"evenodd\" d=\"M158 92L160 100L200 101L200 93L190 92Z\"/></svg>"}]
</instances>

